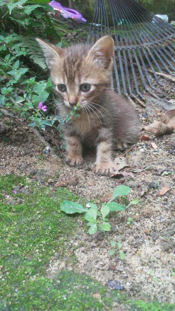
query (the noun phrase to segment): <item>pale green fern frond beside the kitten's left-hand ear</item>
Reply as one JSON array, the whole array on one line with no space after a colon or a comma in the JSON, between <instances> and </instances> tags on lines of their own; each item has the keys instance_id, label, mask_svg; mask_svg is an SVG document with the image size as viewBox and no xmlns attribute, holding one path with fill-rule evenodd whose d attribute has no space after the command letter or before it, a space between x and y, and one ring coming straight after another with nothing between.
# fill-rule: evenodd
<instances>
[{"instance_id":1,"label":"pale green fern frond beside the kitten's left-hand ear","mask_svg":"<svg viewBox=\"0 0 175 311\"><path fill-rule=\"evenodd\" d=\"M18 42L18 46L26 49L27 55L29 55L35 64L39 65L42 69L46 69L43 53L39 44L35 41L35 38L17 35L13 39Z\"/></svg>"}]
</instances>

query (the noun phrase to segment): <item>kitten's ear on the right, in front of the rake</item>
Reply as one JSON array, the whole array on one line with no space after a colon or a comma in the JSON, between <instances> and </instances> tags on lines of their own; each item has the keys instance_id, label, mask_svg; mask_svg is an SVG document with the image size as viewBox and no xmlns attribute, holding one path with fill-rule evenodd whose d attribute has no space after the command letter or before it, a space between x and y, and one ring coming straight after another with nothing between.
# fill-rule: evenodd
<instances>
[{"instance_id":1,"label":"kitten's ear on the right, in front of the rake","mask_svg":"<svg viewBox=\"0 0 175 311\"><path fill-rule=\"evenodd\" d=\"M113 63L114 40L110 36L100 38L89 51L89 58L109 69Z\"/></svg>"}]
</instances>

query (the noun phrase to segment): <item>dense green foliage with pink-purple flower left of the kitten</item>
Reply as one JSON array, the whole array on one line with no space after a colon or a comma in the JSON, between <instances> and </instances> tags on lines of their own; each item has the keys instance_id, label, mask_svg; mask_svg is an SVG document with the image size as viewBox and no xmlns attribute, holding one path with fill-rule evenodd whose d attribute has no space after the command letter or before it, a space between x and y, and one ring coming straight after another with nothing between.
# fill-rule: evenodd
<instances>
[{"instance_id":1,"label":"dense green foliage with pink-purple flower left of the kitten","mask_svg":"<svg viewBox=\"0 0 175 311\"><path fill-rule=\"evenodd\" d=\"M50 79L44 79L45 61L33 38L35 33L59 41L59 47L62 44L61 29L51 19L52 8L47 2L0 0L0 114L6 111L42 130L53 126L61 134L60 123L78 114L77 107L63 119L49 113L56 100ZM40 103L46 108L38 108Z\"/></svg>"}]
</instances>

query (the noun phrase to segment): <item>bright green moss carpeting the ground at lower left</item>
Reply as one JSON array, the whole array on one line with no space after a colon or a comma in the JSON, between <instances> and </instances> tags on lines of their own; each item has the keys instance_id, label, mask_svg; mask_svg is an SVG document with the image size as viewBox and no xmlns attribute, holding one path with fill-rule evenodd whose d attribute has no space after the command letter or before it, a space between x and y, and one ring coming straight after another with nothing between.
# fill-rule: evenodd
<instances>
[{"instance_id":1,"label":"bright green moss carpeting the ground at lower left","mask_svg":"<svg viewBox=\"0 0 175 311\"><path fill-rule=\"evenodd\" d=\"M12 194L17 184L29 186L29 193ZM59 271L47 277L50 259L76 262L66 241L78 227L75 219L59 210L62 200L80 201L65 188L55 193L49 187L12 174L0 177L0 310L1 311L101 311L114 310L113 303L130 311L173 311L174 305L131 300L123 292L109 291L89 276ZM4 195L20 197L22 203L9 205ZM78 216L80 217L80 216ZM96 294L96 295L93 295Z\"/></svg>"}]
</instances>

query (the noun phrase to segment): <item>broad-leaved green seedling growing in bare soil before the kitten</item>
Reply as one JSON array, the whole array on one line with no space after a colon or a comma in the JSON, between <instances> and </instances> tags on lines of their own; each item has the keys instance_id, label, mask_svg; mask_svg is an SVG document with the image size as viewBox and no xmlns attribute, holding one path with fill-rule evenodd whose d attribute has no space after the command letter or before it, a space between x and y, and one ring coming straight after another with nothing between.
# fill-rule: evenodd
<instances>
[{"instance_id":1,"label":"broad-leaved green seedling growing in bare soil before the kitten","mask_svg":"<svg viewBox=\"0 0 175 311\"><path fill-rule=\"evenodd\" d=\"M85 213L84 219L87 220L87 225L89 226L89 234L94 234L97 230L105 232L111 229L111 225L106 218L110 212L114 211L124 211L126 207L117 202L112 202L116 197L121 197L123 195L128 195L130 193L130 188L128 186L120 185L114 189L111 199L107 203L103 203L100 212L96 204L88 203L86 208L77 202L70 202L64 200L60 204L61 211L64 211L67 214L73 213ZM134 200L130 202L131 204L137 204L139 200ZM128 206L129 206L128 205Z\"/></svg>"}]
</instances>

